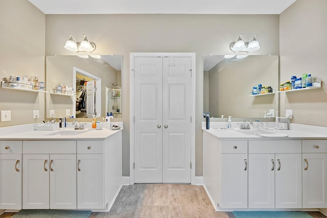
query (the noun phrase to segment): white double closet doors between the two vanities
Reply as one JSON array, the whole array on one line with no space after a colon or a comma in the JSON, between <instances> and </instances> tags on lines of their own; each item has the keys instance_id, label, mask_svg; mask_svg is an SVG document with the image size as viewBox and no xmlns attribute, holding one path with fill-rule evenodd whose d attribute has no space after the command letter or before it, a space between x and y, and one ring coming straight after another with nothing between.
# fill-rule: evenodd
<instances>
[{"instance_id":1,"label":"white double closet doors between the two vanities","mask_svg":"<svg viewBox=\"0 0 327 218\"><path fill-rule=\"evenodd\" d=\"M191 183L191 57L134 58L134 182Z\"/></svg>"}]
</instances>

